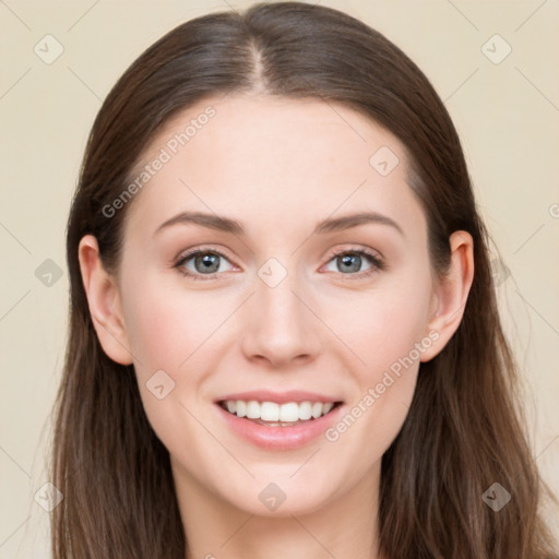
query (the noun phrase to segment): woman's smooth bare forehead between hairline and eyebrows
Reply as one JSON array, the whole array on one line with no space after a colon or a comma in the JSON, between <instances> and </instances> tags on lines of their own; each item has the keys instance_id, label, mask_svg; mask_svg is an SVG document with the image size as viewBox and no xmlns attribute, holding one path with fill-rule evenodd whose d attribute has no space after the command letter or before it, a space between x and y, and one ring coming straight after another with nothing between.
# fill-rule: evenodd
<instances>
[{"instance_id":1,"label":"woman's smooth bare forehead between hairline and eyebrows","mask_svg":"<svg viewBox=\"0 0 559 559\"><path fill-rule=\"evenodd\" d=\"M129 219L155 228L191 210L285 229L365 209L421 219L407 167L403 144L346 106L229 94L159 130L131 174L146 180L138 181Z\"/></svg>"}]
</instances>

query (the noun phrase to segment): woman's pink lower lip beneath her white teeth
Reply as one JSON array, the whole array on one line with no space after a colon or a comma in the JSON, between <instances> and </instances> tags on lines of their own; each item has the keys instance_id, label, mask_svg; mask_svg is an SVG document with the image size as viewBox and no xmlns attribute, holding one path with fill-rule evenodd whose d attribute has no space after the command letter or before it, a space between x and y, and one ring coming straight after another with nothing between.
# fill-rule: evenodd
<instances>
[{"instance_id":1,"label":"woman's pink lower lip beneath her white teeth","mask_svg":"<svg viewBox=\"0 0 559 559\"><path fill-rule=\"evenodd\" d=\"M267 427L226 412L216 404L227 425L242 439L269 450L290 450L308 444L320 437L340 417L343 404L318 419L309 419L290 427Z\"/></svg>"}]
</instances>

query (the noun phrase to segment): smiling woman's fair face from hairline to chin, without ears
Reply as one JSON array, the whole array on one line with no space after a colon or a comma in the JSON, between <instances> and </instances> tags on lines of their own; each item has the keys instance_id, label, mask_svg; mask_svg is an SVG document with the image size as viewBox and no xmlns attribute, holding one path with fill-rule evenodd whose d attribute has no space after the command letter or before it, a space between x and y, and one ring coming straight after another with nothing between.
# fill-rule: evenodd
<instances>
[{"instance_id":1,"label":"smiling woman's fair face from hairline to chin, without ears","mask_svg":"<svg viewBox=\"0 0 559 559\"><path fill-rule=\"evenodd\" d=\"M372 479L440 350L403 145L340 105L228 95L169 121L142 169L118 300L178 485L254 514L280 488L300 514ZM272 424L328 413L270 426L224 401L269 402L247 412Z\"/></svg>"}]
</instances>

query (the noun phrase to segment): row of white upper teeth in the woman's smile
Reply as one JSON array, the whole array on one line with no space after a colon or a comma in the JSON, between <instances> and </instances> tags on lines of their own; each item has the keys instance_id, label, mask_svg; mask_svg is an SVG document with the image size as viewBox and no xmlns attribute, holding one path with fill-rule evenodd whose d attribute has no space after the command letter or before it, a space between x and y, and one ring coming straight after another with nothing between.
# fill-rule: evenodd
<instances>
[{"instance_id":1,"label":"row of white upper teeth in the woman's smile","mask_svg":"<svg viewBox=\"0 0 559 559\"><path fill-rule=\"evenodd\" d=\"M333 402L289 402L287 404L277 404L275 402L257 402L250 400L228 400L224 407L238 417L247 417L248 419L261 419L262 421L306 421L313 417L326 415L333 407Z\"/></svg>"}]
</instances>

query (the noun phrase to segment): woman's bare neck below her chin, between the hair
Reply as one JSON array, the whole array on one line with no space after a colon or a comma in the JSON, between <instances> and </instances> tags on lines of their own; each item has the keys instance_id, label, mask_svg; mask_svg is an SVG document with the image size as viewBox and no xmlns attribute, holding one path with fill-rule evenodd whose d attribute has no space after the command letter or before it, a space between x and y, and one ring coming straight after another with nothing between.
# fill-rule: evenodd
<instances>
[{"instance_id":1,"label":"woman's bare neck below her chin, between the hair","mask_svg":"<svg viewBox=\"0 0 559 559\"><path fill-rule=\"evenodd\" d=\"M344 488L313 511L289 508L286 499L269 515L236 507L176 465L174 477L187 539L186 559L380 559L380 463L357 485Z\"/></svg>"}]
</instances>

